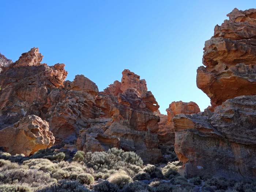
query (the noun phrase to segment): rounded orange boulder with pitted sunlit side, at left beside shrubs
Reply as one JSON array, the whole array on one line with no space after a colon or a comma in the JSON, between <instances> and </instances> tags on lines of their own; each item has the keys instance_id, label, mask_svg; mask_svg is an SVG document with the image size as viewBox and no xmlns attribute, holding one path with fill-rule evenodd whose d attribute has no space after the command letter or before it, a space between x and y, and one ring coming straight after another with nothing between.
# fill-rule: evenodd
<instances>
[{"instance_id":1,"label":"rounded orange boulder with pitted sunlit side, at left beside shrubs","mask_svg":"<svg viewBox=\"0 0 256 192\"><path fill-rule=\"evenodd\" d=\"M0 130L0 146L12 155L30 155L53 144L54 136L49 131L49 123L35 115L23 117L12 127Z\"/></svg>"}]
</instances>

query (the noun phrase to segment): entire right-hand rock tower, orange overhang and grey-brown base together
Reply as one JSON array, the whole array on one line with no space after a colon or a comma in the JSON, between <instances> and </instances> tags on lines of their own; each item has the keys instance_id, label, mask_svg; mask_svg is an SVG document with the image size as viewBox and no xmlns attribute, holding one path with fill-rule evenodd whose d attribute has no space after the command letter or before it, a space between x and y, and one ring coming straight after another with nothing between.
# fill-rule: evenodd
<instances>
[{"instance_id":1,"label":"entire right-hand rock tower, orange overhang and grey-brown base together","mask_svg":"<svg viewBox=\"0 0 256 192\"><path fill-rule=\"evenodd\" d=\"M197 86L205 112L174 116L175 151L188 177L256 177L256 9L227 14L206 41Z\"/></svg>"}]
</instances>

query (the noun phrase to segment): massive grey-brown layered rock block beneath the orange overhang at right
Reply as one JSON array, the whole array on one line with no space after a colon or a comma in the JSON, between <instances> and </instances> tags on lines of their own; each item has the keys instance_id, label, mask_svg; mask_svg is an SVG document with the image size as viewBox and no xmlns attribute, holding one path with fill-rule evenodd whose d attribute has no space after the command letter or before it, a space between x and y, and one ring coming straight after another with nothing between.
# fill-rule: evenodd
<instances>
[{"instance_id":1,"label":"massive grey-brown layered rock block beneath the orange overhang at right","mask_svg":"<svg viewBox=\"0 0 256 192\"><path fill-rule=\"evenodd\" d=\"M174 116L175 151L185 176L256 177L256 96L239 96L214 112Z\"/></svg>"}]
</instances>

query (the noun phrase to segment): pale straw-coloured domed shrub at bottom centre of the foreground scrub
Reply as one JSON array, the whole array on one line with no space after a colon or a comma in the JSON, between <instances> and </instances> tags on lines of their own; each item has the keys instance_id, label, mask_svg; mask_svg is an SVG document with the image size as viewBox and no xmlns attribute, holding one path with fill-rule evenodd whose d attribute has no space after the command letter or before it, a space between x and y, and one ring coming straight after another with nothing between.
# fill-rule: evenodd
<instances>
[{"instance_id":1,"label":"pale straw-coloured domed shrub at bottom centre of the foreground scrub","mask_svg":"<svg viewBox=\"0 0 256 192\"><path fill-rule=\"evenodd\" d=\"M122 189L124 185L132 182L132 178L124 173L115 173L113 175L110 175L108 181L116 184L120 189Z\"/></svg>"}]
</instances>

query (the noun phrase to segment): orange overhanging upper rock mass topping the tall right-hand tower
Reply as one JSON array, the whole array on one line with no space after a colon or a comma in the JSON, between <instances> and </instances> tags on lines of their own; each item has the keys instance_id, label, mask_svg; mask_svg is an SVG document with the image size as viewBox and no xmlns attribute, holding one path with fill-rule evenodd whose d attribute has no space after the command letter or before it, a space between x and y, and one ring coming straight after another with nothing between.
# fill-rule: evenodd
<instances>
[{"instance_id":1,"label":"orange overhanging upper rock mass topping the tall right-hand tower","mask_svg":"<svg viewBox=\"0 0 256 192\"><path fill-rule=\"evenodd\" d=\"M211 99L210 110L227 99L256 95L256 9L227 14L214 36L205 42L197 87Z\"/></svg>"}]
</instances>

